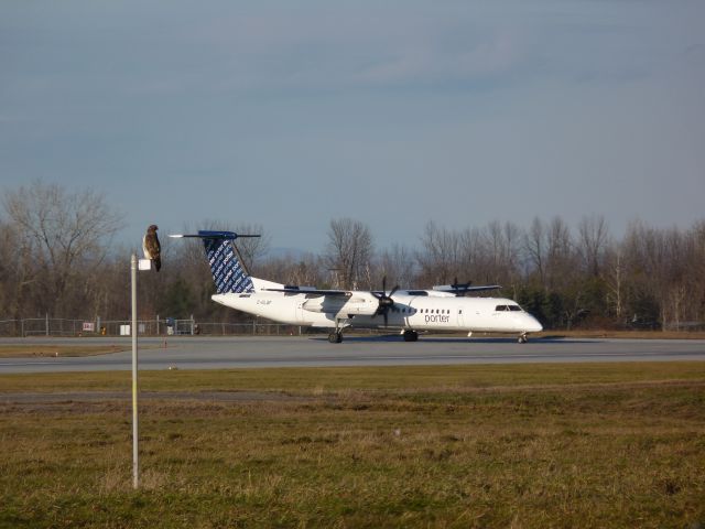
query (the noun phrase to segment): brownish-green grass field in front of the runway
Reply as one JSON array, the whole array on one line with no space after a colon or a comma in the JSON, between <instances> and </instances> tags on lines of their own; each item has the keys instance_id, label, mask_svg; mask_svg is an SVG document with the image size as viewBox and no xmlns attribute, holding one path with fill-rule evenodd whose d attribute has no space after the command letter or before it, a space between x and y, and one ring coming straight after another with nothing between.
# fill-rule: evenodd
<instances>
[{"instance_id":1,"label":"brownish-green grass field in front of the runway","mask_svg":"<svg viewBox=\"0 0 705 529\"><path fill-rule=\"evenodd\" d=\"M0 527L702 527L705 363L0 377ZM149 396L149 398L147 398Z\"/></svg>"}]
</instances>

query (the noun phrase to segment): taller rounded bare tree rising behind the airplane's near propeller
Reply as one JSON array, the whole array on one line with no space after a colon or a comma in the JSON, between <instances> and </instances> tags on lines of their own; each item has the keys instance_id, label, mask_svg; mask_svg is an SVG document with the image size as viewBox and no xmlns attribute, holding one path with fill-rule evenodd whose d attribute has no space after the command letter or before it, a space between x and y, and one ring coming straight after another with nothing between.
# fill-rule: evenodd
<instances>
[{"instance_id":1,"label":"taller rounded bare tree rising behind the airplane's near propeller","mask_svg":"<svg viewBox=\"0 0 705 529\"><path fill-rule=\"evenodd\" d=\"M330 220L326 261L329 268L338 271L341 288L360 288L372 252L372 236L367 226L351 218Z\"/></svg>"}]
</instances>

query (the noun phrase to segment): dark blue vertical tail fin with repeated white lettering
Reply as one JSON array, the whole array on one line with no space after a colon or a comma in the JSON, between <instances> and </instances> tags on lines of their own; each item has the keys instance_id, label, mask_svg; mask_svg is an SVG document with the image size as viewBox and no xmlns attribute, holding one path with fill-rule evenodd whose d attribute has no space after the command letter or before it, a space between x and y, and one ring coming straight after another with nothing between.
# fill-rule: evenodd
<instances>
[{"instance_id":1,"label":"dark blue vertical tail fin with repeated white lettering","mask_svg":"<svg viewBox=\"0 0 705 529\"><path fill-rule=\"evenodd\" d=\"M218 294L227 292L254 292L252 278L240 262L238 249L232 242L238 238L234 231L198 231L206 248Z\"/></svg>"}]
</instances>

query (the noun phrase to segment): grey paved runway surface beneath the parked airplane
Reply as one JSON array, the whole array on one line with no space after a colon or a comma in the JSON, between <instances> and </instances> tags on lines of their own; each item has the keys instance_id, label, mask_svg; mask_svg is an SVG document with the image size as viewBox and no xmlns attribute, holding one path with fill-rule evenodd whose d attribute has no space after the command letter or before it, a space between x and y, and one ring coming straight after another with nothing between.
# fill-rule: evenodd
<instances>
[{"instance_id":1,"label":"grey paved runway surface beneath the parked airplane","mask_svg":"<svg viewBox=\"0 0 705 529\"><path fill-rule=\"evenodd\" d=\"M115 344L130 349L130 338L4 338L0 345ZM164 347L166 345L166 347ZM577 361L705 360L702 339L533 339L422 336L325 336L140 338L139 368L228 369L247 367L408 366ZM131 350L89 357L0 358L0 375L129 370Z\"/></svg>"}]
</instances>

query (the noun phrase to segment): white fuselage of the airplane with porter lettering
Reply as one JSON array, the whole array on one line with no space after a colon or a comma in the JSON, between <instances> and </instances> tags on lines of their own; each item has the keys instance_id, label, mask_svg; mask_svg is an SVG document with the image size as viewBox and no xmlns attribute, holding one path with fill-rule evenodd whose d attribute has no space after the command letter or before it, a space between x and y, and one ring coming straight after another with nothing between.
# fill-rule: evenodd
<instances>
[{"instance_id":1,"label":"white fuselage of the airplane with porter lettering","mask_svg":"<svg viewBox=\"0 0 705 529\"><path fill-rule=\"evenodd\" d=\"M251 292L213 295L213 300L290 325L314 327L400 328L414 331L465 331L511 334L535 333L541 324L509 299L458 298L434 293L413 295L398 292L387 322L376 314L378 300L369 292L351 292L344 298L313 293Z\"/></svg>"}]
</instances>

